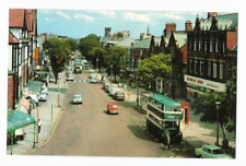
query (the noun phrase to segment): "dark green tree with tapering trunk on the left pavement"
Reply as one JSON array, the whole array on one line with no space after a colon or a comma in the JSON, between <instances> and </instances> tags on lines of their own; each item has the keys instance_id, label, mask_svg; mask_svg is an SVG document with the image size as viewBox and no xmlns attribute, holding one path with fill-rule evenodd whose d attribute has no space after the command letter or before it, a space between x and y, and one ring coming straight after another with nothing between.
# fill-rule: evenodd
<instances>
[{"instance_id":1,"label":"dark green tree with tapering trunk on the left pavement","mask_svg":"<svg viewBox=\"0 0 246 166\"><path fill-rule=\"evenodd\" d=\"M48 51L49 60L51 63L51 68L56 78L58 73L62 72L66 68L66 64L69 64L71 57L71 50L68 45L63 40L59 40L58 38L48 38L44 43L44 49Z\"/></svg>"}]
</instances>

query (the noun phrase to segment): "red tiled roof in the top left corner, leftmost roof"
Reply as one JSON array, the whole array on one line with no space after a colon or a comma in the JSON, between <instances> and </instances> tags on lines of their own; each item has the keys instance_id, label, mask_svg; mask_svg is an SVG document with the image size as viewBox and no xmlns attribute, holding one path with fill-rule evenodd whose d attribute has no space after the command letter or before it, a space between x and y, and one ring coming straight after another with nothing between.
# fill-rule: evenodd
<instances>
[{"instance_id":1,"label":"red tiled roof in the top left corner, leftmost roof","mask_svg":"<svg viewBox=\"0 0 246 166\"><path fill-rule=\"evenodd\" d=\"M24 27L24 9L9 10L9 27Z\"/></svg>"}]
</instances>

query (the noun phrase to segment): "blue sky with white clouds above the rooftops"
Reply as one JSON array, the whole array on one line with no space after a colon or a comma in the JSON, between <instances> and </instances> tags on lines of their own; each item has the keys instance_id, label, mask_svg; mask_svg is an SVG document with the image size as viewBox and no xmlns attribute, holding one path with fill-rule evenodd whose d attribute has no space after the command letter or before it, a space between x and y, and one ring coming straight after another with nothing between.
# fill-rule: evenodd
<instances>
[{"instance_id":1,"label":"blue sky with white clouds above the rooftops","mask_svg":"<svg viewBox=\"0 0 246 166\"><path fill-rule=\"evenodd\" d=\"M149 25L152 35L161 36L166 22L176 23L176 29L183 31L188 20L195 25L197 14L207 17L207 12L38 9L37 31L38 34L82 38L91 33L102 36L105 27L112 27L112 33L130 31L132 38L139 38L140 33L147 33Z\"/></svg>"}]
</instances>

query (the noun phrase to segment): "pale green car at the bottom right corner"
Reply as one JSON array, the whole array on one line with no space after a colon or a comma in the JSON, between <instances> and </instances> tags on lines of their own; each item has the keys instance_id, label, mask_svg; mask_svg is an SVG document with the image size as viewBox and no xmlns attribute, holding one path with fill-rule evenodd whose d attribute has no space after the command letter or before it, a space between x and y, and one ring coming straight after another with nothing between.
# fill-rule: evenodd
<instances>
[{"instance_id":1,"label":"pale green car at the bottom right corner","mask_svg":"<svg viewBox=\"0 0 246 166\"><path fill-rule=\"evenodd\" d=\"M233 158L215 145L202 145L200 149L195 149L195 154L200 158Z\"/></svg>"}]
</instances>

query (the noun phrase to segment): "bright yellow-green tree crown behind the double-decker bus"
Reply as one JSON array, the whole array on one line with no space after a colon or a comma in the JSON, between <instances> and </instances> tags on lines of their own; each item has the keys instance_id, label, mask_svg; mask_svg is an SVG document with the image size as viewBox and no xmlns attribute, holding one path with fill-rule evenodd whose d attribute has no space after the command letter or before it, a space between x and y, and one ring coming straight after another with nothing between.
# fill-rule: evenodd
<instances>
[{"instance_id":1,"label":"bright yellow-green tree crown behind the double-decker bus","mask_svg":"<svg viewBox=\"0 0 246 166\"><path fill-rule=\"evenodd\" d=\"M153 81L164 80L172 73L171 55L153 55L139 61L139 76L143 80L145 87Z\"/></svg>"}]
</instances>

